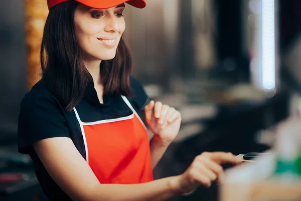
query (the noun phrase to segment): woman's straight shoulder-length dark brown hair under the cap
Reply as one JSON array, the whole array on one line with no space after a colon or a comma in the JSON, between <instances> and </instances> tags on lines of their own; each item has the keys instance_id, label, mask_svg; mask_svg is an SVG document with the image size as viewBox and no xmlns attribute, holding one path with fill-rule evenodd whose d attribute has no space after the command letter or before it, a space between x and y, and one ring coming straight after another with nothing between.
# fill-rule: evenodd
<instances>
[{"instance_id":1,"label":"woman's straight shoulder-length dark brown hair under the cap","mask_svg":"<svg viewBox=\"0 0 301 201\"><path fill-rule=\"evenodd\" d=\"M83 63L83 52L75 35L77 2L59 4L49 11L41 46L42 82L60 100L66 111L82 99L93 79ZM129 83L131 55L123 37L112 60L101 61L104 94L132 96Z\"/></svg>"}]
</instances>

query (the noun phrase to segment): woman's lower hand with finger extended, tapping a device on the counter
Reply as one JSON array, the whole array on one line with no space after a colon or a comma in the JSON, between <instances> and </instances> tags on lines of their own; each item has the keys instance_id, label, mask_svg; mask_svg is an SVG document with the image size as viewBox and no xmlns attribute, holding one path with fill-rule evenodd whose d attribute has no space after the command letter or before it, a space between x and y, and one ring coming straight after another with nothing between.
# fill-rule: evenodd
<instances>
[{"instance_id":1,"label":"woman's lower hand with finger extended, tapping a device on the counter","mask_svg":"<svg viewBox=\"0 0 301 201\"><path fill-rule=\"evenodd\" d=\"M223 179L223 163L240 163L232 153L225 152L203 152L195 157L189 168L176 178L176 186L181 193L188 193L200 184L206 187L216 179Z\"/></svg>"}]
</instances>

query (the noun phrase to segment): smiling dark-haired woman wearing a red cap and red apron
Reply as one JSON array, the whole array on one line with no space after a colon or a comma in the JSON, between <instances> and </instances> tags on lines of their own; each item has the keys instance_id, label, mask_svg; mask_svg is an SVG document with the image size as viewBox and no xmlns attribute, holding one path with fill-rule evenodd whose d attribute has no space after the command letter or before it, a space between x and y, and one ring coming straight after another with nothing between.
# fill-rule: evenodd
<instances>
[{"instance_id":1,"label":"smiling dark-haired woman wearing a red cap and red apron","mask_svg":"<svg viewBox=\"0 0 301 201\"><path fill-rule=\"evenodd\" d=\"M130 76L122 38L125 0L48 0L42 79L21 104L18 147L30 154L51 200L164 200L210 186L231 153L203 153L181 175L152 170L179 132L181 116L146 103ZM144 0L127 4L143 8ZM148 140L138 114L154 133Z\"/></svg>"}]
</instances>

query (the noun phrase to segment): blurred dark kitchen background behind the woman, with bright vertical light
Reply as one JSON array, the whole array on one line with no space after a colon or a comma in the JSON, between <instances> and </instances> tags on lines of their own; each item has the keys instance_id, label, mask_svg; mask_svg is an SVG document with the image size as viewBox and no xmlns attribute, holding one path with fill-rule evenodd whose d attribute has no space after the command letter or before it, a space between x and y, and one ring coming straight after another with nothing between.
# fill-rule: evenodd
<instances>
[{"instance_id":1,"label":"blurred dark kitchen background behind the woman, with bright vertical light","mask_svg":"<svg viewBox=\"0 0 301 201\"><path fill-rule=\"evenodd\" d=\"M183 123L154 171L182 173L203 151L262 152L275 126L298 111L301 1L152 0L126 6L132 74ZM0 2L0 199L43 194L31 160L18 154L20 103L39 79L46 0ZM228 166L225 165L225 168ZM216 186L171 200L217 200Z\"/></svg>"}]
</instances>

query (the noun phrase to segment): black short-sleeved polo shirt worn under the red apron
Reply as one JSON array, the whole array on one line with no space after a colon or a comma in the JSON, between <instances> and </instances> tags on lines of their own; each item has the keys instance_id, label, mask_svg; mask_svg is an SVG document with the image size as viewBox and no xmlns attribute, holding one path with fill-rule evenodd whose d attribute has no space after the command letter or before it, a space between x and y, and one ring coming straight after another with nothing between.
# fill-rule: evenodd
<instances>
[{"instance_id":1,"label":"black short-sleeved polo shirt worn under the red apron","mask_svg":"<svg viewBox=\"0 0 301 201\"><path fill-rule=\"evenodd\" d=\"M132 76L130 85L134 97L128 101L137 114L143 115L141 109L148 103L148 97L142 85ZM76 111L83 122L127 117L132 111L120 95L103 95L103 104L99 103L93 86L87 87ZM67 112L55 95L40 81L25 95L21 103L18 125L19 152L30 154L35 172L44 193L51 200L68 200L68 196L50 177L32 144L46 138L69 137L80 154L86 159L85 146L81 128L74 110Z\"/></svg>"}]
</instances>

